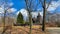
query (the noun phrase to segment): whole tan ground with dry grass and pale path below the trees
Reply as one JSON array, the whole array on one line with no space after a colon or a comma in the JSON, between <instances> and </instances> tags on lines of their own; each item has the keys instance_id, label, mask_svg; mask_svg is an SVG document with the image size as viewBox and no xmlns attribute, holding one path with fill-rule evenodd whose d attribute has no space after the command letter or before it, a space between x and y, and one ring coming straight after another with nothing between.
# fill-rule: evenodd
<instances>
[{"instance_id":1,"label":"whole tan ground with dry grass and pale path below the trees","mask_svg":"<svg viewBox=\"0 0 60 34\"><path fill-rule=\"evenodd\" d=\"M46 27L45 32L41 30L40 25L32 26L32 34L60 34L59 27ZM3 31L3 27L0 27L0 34ZM29 26L12 26L11 32L10 29L7 29L5 34L29 34Z\"/></svg>"}]
</instances>

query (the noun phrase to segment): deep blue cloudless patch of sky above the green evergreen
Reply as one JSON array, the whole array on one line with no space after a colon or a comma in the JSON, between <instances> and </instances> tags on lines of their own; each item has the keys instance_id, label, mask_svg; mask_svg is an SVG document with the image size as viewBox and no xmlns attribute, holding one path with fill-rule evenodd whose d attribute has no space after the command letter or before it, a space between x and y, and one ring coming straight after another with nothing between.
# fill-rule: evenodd
<instances>
[{"instance_id":1,"label":"deep blue cloudless patch of sky above the green evergreen","mask_svg":"<svg viewBox=\"0 0 60 34\"><path fill-rule=\"evenodd\" d=\"M25 8L24 0L12 0L12 2L14 3L13 7L16 8L17 10Z\"/></svg>"}]
</instances>

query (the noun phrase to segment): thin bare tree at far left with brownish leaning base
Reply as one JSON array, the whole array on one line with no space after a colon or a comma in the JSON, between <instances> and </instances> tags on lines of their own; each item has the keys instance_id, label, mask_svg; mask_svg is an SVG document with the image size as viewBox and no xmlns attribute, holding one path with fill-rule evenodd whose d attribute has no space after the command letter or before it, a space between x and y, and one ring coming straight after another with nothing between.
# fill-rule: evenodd
<instances>
[{"instance_id":1,"label":"thin bare tree at far left with brownish leaning base","mask_svg":"<svg viewBox=\"0 0 60 34\"><path fill-rule=\"evenodd\" d=\"M1 1L1 0L0 0L0 1ZM7 10L10 9L12 6L9 6L9 5L8 5L8 2L9 2L8 0L2 0L2 1L3 1L3 2L1 2L0 7L3 8L3 13L2 13L2 14L4 14L4 18L3 18L3 32L2 32L2 34L4 34L5 31L6 31L8 28L11 28L10 25L7 25L8 27L5 25L5 23L6 23L6 22L5 22L5 21L6 21L5 19L6 19Z\"/></svg>"}]
</instances>

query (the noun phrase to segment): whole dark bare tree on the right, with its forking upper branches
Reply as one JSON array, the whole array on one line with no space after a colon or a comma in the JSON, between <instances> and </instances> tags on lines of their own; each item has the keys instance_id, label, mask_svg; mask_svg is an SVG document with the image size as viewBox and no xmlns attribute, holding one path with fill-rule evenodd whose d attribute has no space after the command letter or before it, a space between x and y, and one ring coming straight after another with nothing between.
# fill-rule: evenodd
<instances>
[{"instance_id":1,"label":"whole dark bare tree on the right, with its forking upper branches","mask_svg":"<svg viewBox=\"0 0 60 34\"><path fill-rule=\"evenodd\" d=\"M42 31L45 31L46 11L47 11L47 9L49 8L49 5L50 5L50 3L51 3L52 0L50 0L49 2L47 2L47 3L48 3L47 7L46 7L46 1L47 1L47 0L39 0L39 2L42 4L42 8L43 8Z\"/></svg>"}]
</instances>

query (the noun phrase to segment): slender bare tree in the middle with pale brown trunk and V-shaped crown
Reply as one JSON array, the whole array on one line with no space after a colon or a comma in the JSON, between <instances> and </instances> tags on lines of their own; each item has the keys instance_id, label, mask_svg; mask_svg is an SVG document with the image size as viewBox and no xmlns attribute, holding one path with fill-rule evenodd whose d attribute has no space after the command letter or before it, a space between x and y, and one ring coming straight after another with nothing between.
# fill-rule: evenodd
<instances>
[{"instance_id":1,"label":"slender bare tree in the middle with pale brown trunk and V-shaped crown","mask_svg":"<svg viewBox=\"0 0 60 34\"><path fill-rule=\"evenodd\" d=\"M31 16L31 3L32 3L32 0L25 0L25 3L26 3L26 8L27 8L27 11L29 13L29 23L30 23L30 32L29 34L31 34L31 31L32 31L32 16Z\"/></svg>"}]
</instances>

